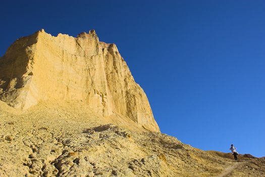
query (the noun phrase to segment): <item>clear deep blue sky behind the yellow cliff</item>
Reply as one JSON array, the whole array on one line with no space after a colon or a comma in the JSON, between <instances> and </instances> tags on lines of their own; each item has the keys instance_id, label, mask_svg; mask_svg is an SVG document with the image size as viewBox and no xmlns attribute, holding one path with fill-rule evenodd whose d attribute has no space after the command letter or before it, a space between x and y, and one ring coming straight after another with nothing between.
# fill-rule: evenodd
<instances>
[{"instance_id":1,"label":"clear deep blue sky behind the yellow cliff","mask_svg":"<svg viewBox=\"0 0 265 177\"><path fill-rule=\"evenodd\" d=\"M95 29L118 46L163 133L265 156L265 1L3 1L0 23L0 56L41 28Z\"/></svg>"}]
</instances>

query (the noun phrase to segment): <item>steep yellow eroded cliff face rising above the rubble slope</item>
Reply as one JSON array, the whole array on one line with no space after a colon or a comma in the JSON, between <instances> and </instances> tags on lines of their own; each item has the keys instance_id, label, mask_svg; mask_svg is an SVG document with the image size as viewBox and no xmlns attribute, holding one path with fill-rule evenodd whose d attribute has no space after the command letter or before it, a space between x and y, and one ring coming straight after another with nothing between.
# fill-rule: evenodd
<instances>
[{"instance_id":1,"label":"steep yellow eroded cliff face rising above the rubble slope","mask_svg":"<svg viewBox=\"0 0 265 177\"><path fill-rule=\"evenodd\" d=\"M18 109L81 100L97 114L127 117L160 131L116 45L100 42L94 30L76 38L40 30L16 40L0 59L0 99Z\"/></svg>"}]
</instances>

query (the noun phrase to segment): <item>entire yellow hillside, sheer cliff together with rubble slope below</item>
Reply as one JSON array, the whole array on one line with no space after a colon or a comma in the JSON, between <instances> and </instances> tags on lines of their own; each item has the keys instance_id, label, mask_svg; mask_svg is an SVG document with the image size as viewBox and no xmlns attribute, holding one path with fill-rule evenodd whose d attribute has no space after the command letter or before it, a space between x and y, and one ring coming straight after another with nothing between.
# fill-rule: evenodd
<instances>
[{"instance_id":1,"label":"entire yellow hillside, sheer cliff together with rubble slope below","mask_svg":"<svg viewBox=\"0 0 265 177\"><path fill-rule=\"evenodd\" d=\"M265 176L160 132L113 44L38 31L0 59L0 176Z\"/></svg>"}]
</instances>

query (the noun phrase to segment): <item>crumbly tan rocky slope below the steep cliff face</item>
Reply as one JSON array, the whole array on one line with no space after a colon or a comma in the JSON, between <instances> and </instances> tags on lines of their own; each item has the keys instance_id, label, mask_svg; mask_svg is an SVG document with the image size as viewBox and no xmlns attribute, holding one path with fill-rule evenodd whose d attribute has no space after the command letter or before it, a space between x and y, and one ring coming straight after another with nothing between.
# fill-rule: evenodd
<instances>
[{"instance_id":1,"label":"crumbly tan rocky slope below the steep cliff face","mask_svg":"<svg viewBox=\"0 0 265 177\"><path fill-rule=\"evenodd\" d=\"M0 176L265 176L264 158L239 159L95 115L83 103L21 112L0 102Z\"/></svg>"}]
</instances>

